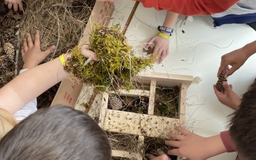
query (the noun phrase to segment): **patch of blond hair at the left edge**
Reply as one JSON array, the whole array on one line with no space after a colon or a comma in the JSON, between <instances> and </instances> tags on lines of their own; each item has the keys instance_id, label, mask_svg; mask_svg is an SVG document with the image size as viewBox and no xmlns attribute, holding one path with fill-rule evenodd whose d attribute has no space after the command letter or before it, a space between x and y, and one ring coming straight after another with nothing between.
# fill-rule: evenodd
<instances>
[{"instance_id":1,"label":"patch of blond hair at the left edge","mask_svg":"<svg viewBox=\"0 0 256 160\"><path fill-rule=\"evenodd\" d=\"M11 113L3 108L0 108L0 140L17 124L17 120L15 120Z\"/></svg>"}]
</instances>

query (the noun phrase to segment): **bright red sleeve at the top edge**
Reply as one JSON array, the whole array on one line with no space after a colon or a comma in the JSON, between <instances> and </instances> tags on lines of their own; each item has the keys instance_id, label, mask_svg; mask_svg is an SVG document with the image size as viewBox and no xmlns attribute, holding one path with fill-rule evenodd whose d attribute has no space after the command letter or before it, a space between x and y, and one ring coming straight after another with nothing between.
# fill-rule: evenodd
<instances>
[{"instance_id":1,"label":"bright red sleeve at the top edge","mask_svg":"<svg viewBox=\"0 0 256 160\"><path fill-rule=\"evenodd\" d=\"M181 15L211 15L224 12L239 0L136 0L145 7Z\"/></svg>"}]
</instances>

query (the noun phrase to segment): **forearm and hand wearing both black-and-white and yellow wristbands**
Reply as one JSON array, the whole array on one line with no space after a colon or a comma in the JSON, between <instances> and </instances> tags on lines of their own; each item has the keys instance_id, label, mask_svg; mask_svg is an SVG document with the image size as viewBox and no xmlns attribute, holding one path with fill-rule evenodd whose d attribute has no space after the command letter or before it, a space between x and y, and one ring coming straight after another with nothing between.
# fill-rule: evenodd
<instances>
[{"instance_id":1,"label":"forearm and hand wearing both black-and-white and yellow wristbands","mask_svg":"<svg viewBox=\"0 0 256 160\"><path fill-rule=\"evenodd\" d=\"M167 12L163 26L166 28L173 29L178 16L179 14L177 13ZM168 32L161 31L161 33L163 33L164 35L170 36L170 33ZM159 54L158 62L161 63L164 60L164 58L166 58L166 56L169 54L170 38L166 39L159 35L156 35L148 41L148 44L146 47L150 47L152 43L155 44L153 52L157 52Z\"/></svg>"}]
</instances>

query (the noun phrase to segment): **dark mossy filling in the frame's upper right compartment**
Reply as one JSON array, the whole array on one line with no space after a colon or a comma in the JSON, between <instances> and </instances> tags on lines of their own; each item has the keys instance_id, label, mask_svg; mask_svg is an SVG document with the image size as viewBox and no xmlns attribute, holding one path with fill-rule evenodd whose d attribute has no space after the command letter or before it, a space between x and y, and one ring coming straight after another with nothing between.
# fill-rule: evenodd
<instances>
[{"instance_id":1,"label":"dark mossy filling in the frame's upper right compartment","mask_svg":"<svg viewBox=\"0 0 256 160\"><path fill-rule=\"evenodd\" d=\"M179 118L179 86L156 88L154 115Z\"/></svg>"}]
</instances>

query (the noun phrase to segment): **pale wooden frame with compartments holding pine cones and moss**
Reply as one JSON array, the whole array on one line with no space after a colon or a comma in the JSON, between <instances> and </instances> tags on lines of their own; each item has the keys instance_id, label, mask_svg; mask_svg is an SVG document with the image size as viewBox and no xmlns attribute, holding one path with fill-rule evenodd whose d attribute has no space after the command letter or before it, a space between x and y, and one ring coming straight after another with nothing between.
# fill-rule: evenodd
<instances>
[{"instance_id":1,"label":"pale wooden frame with compartments holding pine cones and moss","mask_svg":"<svg viewBox=\"0 0 256 160\"><path fill-rule=\"evenodd\" d=\"M189 85L193 81L192 76L182 76L174 74L161 74L153 72L143 72L136 76L135 81L141 85L150 85L150 90L124 90L118 91L118 95L146 96L149 97L148 114L131 113L108 109L108 93L103 94L102 108L100 111L99 125L105 131L121 132L126 134L138 135L139 145L143 145L144 136L163 137L175 125L183 125L186 116L186 94ZM156 87L162 86L171 88L175 85L180 86L179 93L179 118L167 118L154 115L154 104ZM138 153L129 153L121 150L112 150L113 156L127 157L141 160L143 157Z\"/></svg>"}]
</instances>

